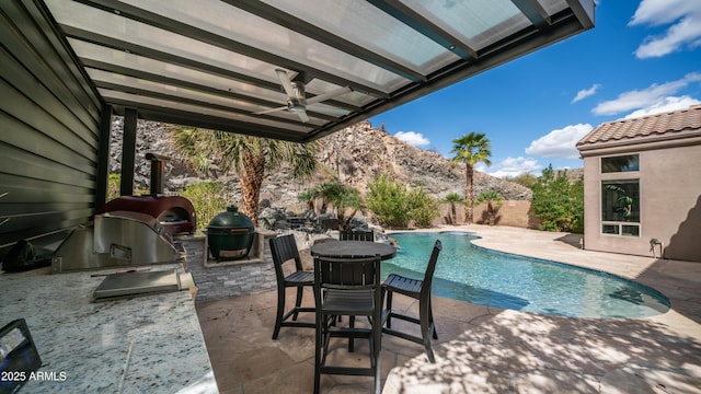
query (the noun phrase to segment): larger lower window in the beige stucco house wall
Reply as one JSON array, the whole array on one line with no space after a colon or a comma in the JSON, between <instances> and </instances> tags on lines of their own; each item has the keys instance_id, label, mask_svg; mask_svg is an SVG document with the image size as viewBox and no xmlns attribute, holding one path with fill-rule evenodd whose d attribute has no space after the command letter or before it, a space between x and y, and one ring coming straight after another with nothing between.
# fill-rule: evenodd
<instances>
[{"instance_id":1,"label":"larger lower window in the beige stucco house wall","mask_svg":"<svg viewBox=\"0 0 701 394\"><path fill-rule=\"evenodd\" d=\"M640 181L601 182L601 232L640 236Z\"/></svg>"}]
</instances>

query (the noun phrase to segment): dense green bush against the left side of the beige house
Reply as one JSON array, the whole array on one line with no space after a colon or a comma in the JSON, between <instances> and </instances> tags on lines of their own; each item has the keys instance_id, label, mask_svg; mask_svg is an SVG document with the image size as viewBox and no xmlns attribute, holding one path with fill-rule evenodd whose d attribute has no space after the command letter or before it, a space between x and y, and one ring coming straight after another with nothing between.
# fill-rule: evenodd
<instances>
[{"instance_id":1,"label":"dense green bush against the left side of the beige house","mask_svg":"<svg viewBox=\"0 0 701 394\"><path fill-rule=\"evenodd\" d=\"M542 221L540 230L584 232L584 181L570 183L566 171L555 171L552 164L543 170L532 187L533 215Z\"/></svg>"}]
</instances>

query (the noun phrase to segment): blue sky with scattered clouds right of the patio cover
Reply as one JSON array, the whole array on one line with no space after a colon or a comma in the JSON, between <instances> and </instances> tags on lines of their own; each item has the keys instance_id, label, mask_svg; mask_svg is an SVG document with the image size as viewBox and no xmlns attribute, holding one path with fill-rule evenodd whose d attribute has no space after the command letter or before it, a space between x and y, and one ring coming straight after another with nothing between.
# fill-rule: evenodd
<instances>
[{"instance_id":1,"label":"blue sky with scattered clouds right of the patio cover","mask_svg":"<svg viewBox=\"0 0 701 394\"><path fill-rule=\"evenodd\" d=\"M495 176L583 166L575 143L605 121L701 103L701 0L599 0L596 25L370 118L451 158L470 131Z\"/></svg>"}]
</instances>

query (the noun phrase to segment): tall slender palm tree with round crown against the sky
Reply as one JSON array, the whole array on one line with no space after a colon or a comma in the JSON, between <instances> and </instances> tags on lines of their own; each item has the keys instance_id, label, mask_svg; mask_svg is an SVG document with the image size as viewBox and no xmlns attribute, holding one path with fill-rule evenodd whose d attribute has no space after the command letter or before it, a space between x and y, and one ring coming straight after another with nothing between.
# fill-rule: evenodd
<instances>
[{"instance_id":1,"label":"tall slender palm tree with round crown against the sky","mask_svg":"<svg viewBox=\"0 0 701 394\"><path fill-rule=\"evenodd\" d=\"M466 190L464 199L467 207L464 210L464 221L472 224L474 210L474 198L472 197L472 176L474 175L474 165L484 163L491 165L490 157L492 155L492 147L490 139L483 134L471 131L460 138L452 140L453 147L450 153L455 153L453 163L464 163L466 165Z\"/></svg>"}]
</instances>

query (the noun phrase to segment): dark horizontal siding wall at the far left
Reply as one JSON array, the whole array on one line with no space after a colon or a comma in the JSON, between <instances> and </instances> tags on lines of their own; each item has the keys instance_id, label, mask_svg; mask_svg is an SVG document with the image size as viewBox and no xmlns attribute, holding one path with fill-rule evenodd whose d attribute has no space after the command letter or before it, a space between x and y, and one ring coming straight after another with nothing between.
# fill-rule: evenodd
<instances>
[{"instance_id":1,"label":"dark horizontal siding wall at the far left","mask_svg":"<svg viewBox=\"0 0 701 394\"><path fill-rule=\"evenodd\" d=\"M42 5L0 1L0 257L90 219L101 108Z\"/></svg>"}]
</instances>

